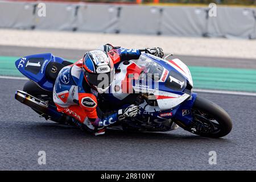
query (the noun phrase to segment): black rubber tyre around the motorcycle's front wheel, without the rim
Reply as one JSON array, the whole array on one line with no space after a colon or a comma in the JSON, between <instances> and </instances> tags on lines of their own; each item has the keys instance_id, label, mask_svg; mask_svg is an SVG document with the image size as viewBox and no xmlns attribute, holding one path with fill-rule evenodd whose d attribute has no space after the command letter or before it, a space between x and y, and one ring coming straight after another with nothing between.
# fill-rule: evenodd
<instances>
[{"instance_id":1,"label":"black rubber tyre around the motorcycle's front wheel, without the rim","mask_svg":"<svg viewBox=\"0 0 256 182\"><path fill-rule=\"evenodd\" d=\"M195 104L192 107L192 114L195 114L195 112L197 112L197 115L199 115L198 113L201 113L201 116L199 117L208 116L211 118L208 118L209 120L214 119L215 122L213 123L212 121L212 123L214 124L214 126L218 126L217 131L214 131L212 133L195 133L197 135L200 135L202 137L220 138L228 135L232 130L232 120L229 114L226 113L226 111L220 106L214 104L212 101L209 101L205 98L197 97Z\"/></svg>"}]
</instances>

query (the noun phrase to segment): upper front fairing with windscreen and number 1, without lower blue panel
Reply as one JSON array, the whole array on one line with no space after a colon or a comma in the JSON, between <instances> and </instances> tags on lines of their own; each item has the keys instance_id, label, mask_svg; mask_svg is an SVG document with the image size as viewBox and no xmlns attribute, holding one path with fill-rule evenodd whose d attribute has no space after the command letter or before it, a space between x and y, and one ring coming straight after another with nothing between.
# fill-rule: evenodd
<instances>
[{"instance_id":1,"label":"upper front fairing with windscreen and number 1, without lower blue panel","mask_svg":"<svg viewBox=\"0 0 256 182\"><path fill-rule=\"evenodd\" d=\"M168 110L191 96L191 74L187 66L178 59L171 60L170 63L154 55L142 53L139 60L120 63L118 70L110 93L119 100L126 98L132 88L137 93L154 95L160 110ZM138 76L141 73L146 74L147 78ZM151 79L148 80L148 77Z\"/></svg>"}]
</instances>

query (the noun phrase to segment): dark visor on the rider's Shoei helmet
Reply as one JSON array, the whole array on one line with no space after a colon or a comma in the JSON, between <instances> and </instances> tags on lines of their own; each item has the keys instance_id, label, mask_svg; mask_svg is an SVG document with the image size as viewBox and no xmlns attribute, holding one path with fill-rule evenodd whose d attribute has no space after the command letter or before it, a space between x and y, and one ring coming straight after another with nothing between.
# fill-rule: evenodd
<instances>
[{"instance_id":1,"label":"dark visor on the rider's Shoei helmet","mask_svg":"<svg viewBox=\"0 0 256 182\"><path fill-rule=\"evenodd\" d=\"M96 86L96 88L105 89L108 88L114 80L115 71L109 73L88 73L85 72L85 77L90 85Z\"/></svg>"}]
</instances>

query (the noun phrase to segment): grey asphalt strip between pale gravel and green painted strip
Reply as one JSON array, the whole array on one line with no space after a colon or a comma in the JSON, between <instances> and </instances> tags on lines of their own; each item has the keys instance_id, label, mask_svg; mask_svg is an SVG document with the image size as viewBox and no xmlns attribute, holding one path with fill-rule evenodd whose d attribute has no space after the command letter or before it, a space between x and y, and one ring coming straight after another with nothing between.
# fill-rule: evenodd
<instances>
[{"instance_id":1,"label":"grey asphalt strip between pale gravel and green painted strip","mask_svg":"<svg viewBox=\"0 0 256 182\"><path fill-rule=\"evenodd\" d=\"M82 56L84 56L84 53L86 51L88 50L0 46L0 56L23 57L23 56L34 55L38 53L51 52L53 55L63 57L64 59L79 60ZM174 55L173 59L174 58L179 58L185 64L190 66L256 69L256 59L184 56L184 55Z\"/></svg>"}]
</instances>

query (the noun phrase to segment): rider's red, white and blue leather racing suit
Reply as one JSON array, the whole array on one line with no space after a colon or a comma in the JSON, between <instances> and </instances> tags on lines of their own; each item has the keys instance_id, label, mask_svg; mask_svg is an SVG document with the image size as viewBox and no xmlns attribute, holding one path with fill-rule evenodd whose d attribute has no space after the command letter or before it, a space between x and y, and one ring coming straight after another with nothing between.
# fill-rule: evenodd
<instances>
[{"instance_id":1,"label":"rider's red, white and blue leather racing suit","mask_svg":"<svg viewBox=\"0 0 256 182\"><path fill-rule=\"evenodd\" d=\"M125 49L104 45L114 64L120 61L139 59L139 49ZM104 50L103 50L104 49ZM97 104L98 92L90 88L82 72L83 59L64 67L59 72L53 88L53 101L57 111L63 112L77 121L88 125L104 127L118 121L118 112L105 115ZM95 124L94 124L95 123Z\"/></svg>"}]
</instances>

